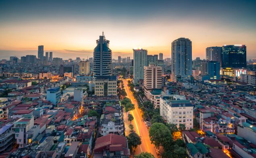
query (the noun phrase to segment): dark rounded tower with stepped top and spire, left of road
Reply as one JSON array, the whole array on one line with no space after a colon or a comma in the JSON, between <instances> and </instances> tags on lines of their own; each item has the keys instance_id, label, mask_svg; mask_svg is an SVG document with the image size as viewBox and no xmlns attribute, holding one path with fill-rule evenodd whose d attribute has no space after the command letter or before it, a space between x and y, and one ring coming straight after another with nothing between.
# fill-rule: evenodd
<instances>
[{"instance_id":1,"label":"dark rounded tower with stepped top and spire, left of road","mask_svg":"<svg viewBox=\"0 0 256 158\"><path fill-rule=\"evenodd\" d=\"M100 39L96 40L94 48L94 76L112 75L112 51L109 49L109 41L105 39L104 32Z\"/></svg>"}]
</instances>

